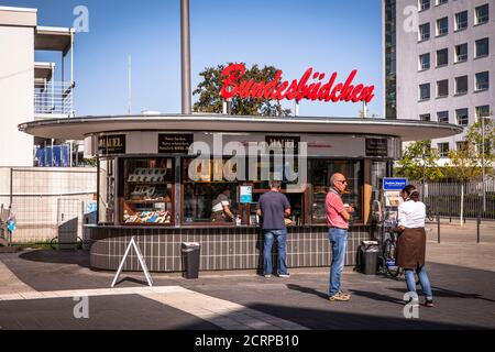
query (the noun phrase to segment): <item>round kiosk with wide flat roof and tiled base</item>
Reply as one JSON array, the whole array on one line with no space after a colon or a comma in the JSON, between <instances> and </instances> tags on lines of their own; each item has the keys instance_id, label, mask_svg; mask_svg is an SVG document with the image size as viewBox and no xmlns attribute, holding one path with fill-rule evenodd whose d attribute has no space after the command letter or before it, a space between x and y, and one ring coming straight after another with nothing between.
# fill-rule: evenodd
<instances>
[{"instance_id":1,"label":"round kiosk with wide flat roof and tiled base","mask_svg":"<svg viewBox=\"0 0 495 352\"><path fill-rule=\"evenodd\" d=\"M280 147L284 160L294 156L299 175L290 180L276 163L265 168L270 179L283 180L293 207L288 266L331 263L324 197L334 172L349 180L343 198L356 209L345 255L345 265L354 265L361 241L372 237L371 206L400 157L400 142L461 132L426 121L224 114L87 117L19 128L40 138L85 140L86 153L98 158L98 220L87 226L91 267L117 270L134 237L151 272L183 271L183 242L200 243L201 271L262 267L255 206L268 190L260 173L272 160L263 153L250 158L250 147L263 143ZM206 157L205 150L210 152ZM227 169L244 177L227 177ZM211 221L212 200L224 189L235 218ZM123 267L139 268L132 255Z\"/></svg>"}]
</instances>

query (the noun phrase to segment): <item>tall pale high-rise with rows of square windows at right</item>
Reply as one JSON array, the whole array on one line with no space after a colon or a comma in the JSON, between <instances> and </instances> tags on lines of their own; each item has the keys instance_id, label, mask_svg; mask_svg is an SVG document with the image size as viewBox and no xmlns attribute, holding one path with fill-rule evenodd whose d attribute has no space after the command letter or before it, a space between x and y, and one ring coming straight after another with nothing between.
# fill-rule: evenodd
<instances>
[{"instance_id":1,"label":"tall pale high-rise with rows of square windows at right","mask_svg":"<svg viewBox=\"0 0 495 352\"><path fill-rule=\"evenodd\" d=\"M384 0L385 112L468 127L495 108L495 0ZM447 161L464 133L431 141Z\"/></svg>"}]
</instances>

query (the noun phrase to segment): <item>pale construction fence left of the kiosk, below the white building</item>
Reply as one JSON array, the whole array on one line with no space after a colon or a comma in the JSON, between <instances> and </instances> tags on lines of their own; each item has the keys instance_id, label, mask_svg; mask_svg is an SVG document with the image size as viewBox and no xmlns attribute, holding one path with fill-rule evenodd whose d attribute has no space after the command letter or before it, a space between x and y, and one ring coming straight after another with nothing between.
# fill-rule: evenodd
<instances>
[{"instance_id":1,"label":"pale construction fence left of the kiosk, below the white building","mask_svg":"<svg viewBox=\"0 0 495 352\"><path fill-rule=\"evenodd\" d=\"M68 228L81 238L96 193L96 167L0 167L0 205L15 217L13 243L50 241Z\"/></svg>"}]
</instances>

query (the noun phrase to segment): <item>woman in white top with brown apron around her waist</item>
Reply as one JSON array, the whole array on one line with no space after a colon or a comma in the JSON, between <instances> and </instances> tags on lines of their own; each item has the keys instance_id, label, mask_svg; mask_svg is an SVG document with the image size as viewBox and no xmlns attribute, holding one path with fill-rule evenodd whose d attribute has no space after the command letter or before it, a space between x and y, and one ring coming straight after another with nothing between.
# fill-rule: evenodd
<instances>
[{"instance_id":1,"label":"woman in white top with brown apron around her waist","mask_svg":"<svg viewBox=\"0 0 495 352\"><path fill-rule=\"evenodd\" d=\"M422 293L426 296L425 306L433 307L433 294L430 280L425 270L426 232L425 218L426 206L419 201L419 193L416 187L408 185L403 188L400 196L404 202L398 207L398 226L396 231L400 233L397 240L397 265L406 272L407 290L416 296L415 271L419 277ZM416 296L417 297L417 296ZM409 301L414 297L409 296Z\"/></svg>"}]
</instances>

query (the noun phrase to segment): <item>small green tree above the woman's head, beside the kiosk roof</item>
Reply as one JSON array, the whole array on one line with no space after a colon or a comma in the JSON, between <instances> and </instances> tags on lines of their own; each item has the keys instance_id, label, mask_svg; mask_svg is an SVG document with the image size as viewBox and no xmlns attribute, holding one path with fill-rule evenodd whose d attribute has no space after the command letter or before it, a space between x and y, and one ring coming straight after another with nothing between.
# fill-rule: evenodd
<instances>
[{"instance_id":1,"label":"small green tree above the woman's head, beside the kiosk roof","mask_svg":"<svg viewBox=\"0 0 495 352\"><path fill-rule=\"evenodd\" d=\"M430 141L413 142L397 162L399 167L396 169L396 175L407 177L409 180L439 180L444 175L437 163L438 160L438 150L431 147Z\"/></svg>"}]
</instances>

